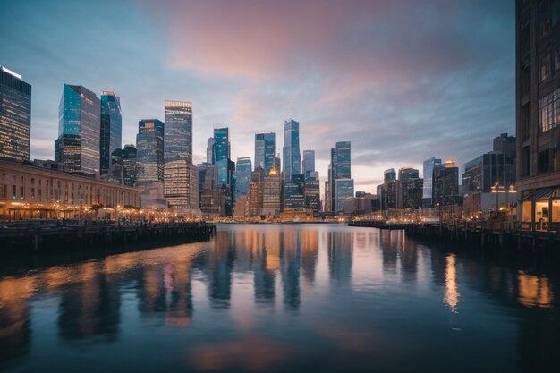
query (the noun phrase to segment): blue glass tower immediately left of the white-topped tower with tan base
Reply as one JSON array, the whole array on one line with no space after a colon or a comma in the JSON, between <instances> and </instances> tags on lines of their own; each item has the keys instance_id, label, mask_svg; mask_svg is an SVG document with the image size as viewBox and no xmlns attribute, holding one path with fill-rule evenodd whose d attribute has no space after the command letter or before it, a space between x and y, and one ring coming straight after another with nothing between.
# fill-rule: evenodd
<instances>
[{"instance_id":1,"label":"blue glass tower immediately left of the white-topped tower with tan base","mask_svg":"<svg viewBox=\"0 0 560 373\"><path fill-rule=\"evenodd\" d=\"M136 135L138 184L164 182L164 123L158 119L142 119Z\"/></svg>"}]
</instances>

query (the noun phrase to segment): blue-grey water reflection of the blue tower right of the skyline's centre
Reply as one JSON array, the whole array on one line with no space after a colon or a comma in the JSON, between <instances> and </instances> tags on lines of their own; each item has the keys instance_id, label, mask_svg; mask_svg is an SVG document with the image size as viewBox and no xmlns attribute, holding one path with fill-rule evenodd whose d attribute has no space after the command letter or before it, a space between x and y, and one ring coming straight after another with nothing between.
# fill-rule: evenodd
<instances>
[{"instance_id":1,"label":"blue-grey water reflection of the blue tower right of the skyline's centre","mask_svg":"<svg viewBox=\"0 0 560 373\"><path fill-rule=\"evenodd\" d=\"M327 252L331 281L339 285L350 284L352 279L352 233L328 233Z\"/></svg>"}]
</instances>

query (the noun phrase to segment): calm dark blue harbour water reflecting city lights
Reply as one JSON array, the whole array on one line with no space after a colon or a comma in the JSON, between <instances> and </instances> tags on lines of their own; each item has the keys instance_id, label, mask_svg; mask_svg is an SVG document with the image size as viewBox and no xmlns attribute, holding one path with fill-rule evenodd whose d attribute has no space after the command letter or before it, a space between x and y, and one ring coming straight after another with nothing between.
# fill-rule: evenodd
<instances>
[{"instance_id":1,"label":"calm dark blue harbour water reflecting city lights","mask_svg":"<svg viewBox=\"0 0 560 373\"><path fill-rule=\"evenodd\" d=\"M4 261L0 370L550 371L557 268L344 225L222 225L16 276Z\"/></svg>"}]
</instances>

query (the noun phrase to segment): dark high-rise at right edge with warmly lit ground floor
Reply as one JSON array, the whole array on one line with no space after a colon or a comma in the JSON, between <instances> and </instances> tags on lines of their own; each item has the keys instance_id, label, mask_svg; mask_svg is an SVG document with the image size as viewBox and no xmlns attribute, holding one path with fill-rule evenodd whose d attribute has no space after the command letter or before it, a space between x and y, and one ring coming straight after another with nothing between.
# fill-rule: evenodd
<instances>
[{"instance_id":1,"label":"dark high-rise at right edge with warmly lit ground floor","mask_svg":"<svg viewBox=\"0 0 560 373\"><path fill-rule=\"evenodd\" d=\"M520 221L531 230L560 227L559 5L516 1L515 188Z\"/></svg>"}]
</instances>

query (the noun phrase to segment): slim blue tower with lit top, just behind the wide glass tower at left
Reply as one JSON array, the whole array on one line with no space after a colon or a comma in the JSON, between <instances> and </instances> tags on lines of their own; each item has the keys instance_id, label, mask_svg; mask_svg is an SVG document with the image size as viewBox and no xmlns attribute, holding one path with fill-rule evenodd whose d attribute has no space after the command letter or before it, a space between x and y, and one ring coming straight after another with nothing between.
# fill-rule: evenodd
<instances>
[{"instance_id":1,"label":"slim blue tower with lit top, just behind the wide glass tower at left","mask_svg":"<svg viewBox=\"0 0 560 373\"><path fill-rule=\"evenodd\" d=\"M121 114L121 98L115 92L101 91L99 131L99 173L106 174L111 165L111 156L121 148L123 139L123 115Z\"/></svg>"}]
</instances>

